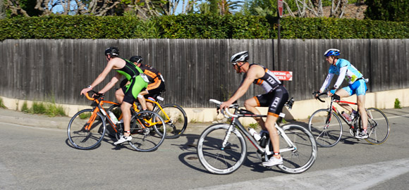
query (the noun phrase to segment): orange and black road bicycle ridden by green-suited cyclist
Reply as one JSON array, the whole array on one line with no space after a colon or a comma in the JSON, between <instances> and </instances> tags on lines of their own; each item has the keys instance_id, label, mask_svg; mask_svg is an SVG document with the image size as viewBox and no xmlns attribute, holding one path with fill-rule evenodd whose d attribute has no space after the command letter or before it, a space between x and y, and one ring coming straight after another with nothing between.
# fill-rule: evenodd
<instances>
[{"instance_id":1,"label":"orange and black road bicycle ridden by green-suited cyclist","mask_svg":"<svg viewBox=\"0 0 409 190\"><path fill-rule=\"evenodd\" d=\"M94 108L80 110L68 123L68 139L78 149L90 149L100 144L104 138L107 123L115 132L116 139L123 135L123 124L114 122L103 107L104 103L116 106L118 103L105 101L104 94L98 94L96 91L89 91L89 93L93 93L94 96L90 97L89 94L85 94L85 96L93 101ZM152 132L163 133L166 130L164 120L158 113L140 111L133 113L130 121L130 134L133 138L129 144L136 151L154 151L164 141L166 135L152 135Z\"/></svg>"}]
</instances>

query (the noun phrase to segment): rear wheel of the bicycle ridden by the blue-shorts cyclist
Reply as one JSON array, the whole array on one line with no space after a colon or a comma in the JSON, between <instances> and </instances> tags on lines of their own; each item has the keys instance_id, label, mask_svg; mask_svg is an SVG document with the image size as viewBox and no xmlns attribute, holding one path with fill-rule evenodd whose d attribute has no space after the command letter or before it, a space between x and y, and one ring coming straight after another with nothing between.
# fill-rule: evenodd
<instances>
[{"instance_id":1,"label":"rear wheel of the bicycle ridden by the blue-shorts cyclist","mask_svg":"<svg viewBox=\"0 0 409 190\"><path fill-rule=\"evenodd\" d=\"M368 138L365 139L370 144L383 144L389 137L390 126L389 120L384 112L377 108L368 108ZM362 121L359 122L359 127L362 129Z\"/></svg>"}]
</instances>

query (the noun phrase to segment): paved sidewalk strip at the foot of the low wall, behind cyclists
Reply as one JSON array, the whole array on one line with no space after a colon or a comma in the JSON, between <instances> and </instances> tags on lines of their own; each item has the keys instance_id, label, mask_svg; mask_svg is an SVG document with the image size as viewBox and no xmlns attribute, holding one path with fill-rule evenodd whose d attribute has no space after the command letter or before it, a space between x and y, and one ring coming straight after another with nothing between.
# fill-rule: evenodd
<instances>
[{"instance_id":1,"label":"paved sidewalk strip at the foot of the low wall, behind cyclists","mask_svg":"<svg viewBox=\"0 0 409 190\"><path fill-rule=\"evenodd\" d=\"M16 110L0 108L0 122L25 125L30 127L43 127L54 129L67 129L70 117L49 117L47 115L38 115L23 113ZM201 134L202 131L212 125L211 122L188 123L185 132Z\"/></svg>"}]
</instances>

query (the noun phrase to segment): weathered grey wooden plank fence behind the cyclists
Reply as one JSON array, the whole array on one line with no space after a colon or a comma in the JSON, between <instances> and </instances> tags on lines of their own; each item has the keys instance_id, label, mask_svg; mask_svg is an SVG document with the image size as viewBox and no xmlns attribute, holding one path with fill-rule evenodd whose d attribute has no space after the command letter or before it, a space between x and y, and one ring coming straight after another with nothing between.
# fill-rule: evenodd
<instances>
[{"instance_id":1,"label":"weathered grey wooden plank fence behind the cyclists","mask_svg":"<svg viewBox=\"0 0 409 190\"><path fill-rule=\"evenodd\" d=\"M296 100L311 99L312 91L321 87L329 68L323 53L329 48L340 49L341 58L370 79L369 91L402 89L409 87L408 42L281 39L279 47L276 39L6 39L0 42L0 96L89 104L80 91L104 69L104 50L109 46L118 46L123 58L142 56L143 63L164 75L166 103L190 108L212 107L209 99L226 100L233 94L243 75L236 74L228 61L245 50L250 63L293 71L293 80L283 83ZM112 76L114 72L96 89ZM245 98L260 93L262 89L254 86ZM114 100L114 91L106 96Z\"/></svg>"}]
</instances>

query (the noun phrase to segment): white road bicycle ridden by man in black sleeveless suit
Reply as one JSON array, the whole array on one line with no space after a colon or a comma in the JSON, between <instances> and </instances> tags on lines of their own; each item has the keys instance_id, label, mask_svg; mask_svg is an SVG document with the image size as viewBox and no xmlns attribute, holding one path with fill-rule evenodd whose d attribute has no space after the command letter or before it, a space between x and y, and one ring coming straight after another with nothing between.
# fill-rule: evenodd
<instances>
[{"instance_id":1,"label":"white road bicycle ridden by man in black sleeveless suit","mask_svg":"<svg viewBox=\"0 0 409 190\"><path fill-rule=\"evenodd\" d=\"M221 102L210 99L211 102L220 106ZM288 101L286 106L291 109L293 100ZM221 110L226 118L231 118L231 123L218 123L204 129L197 142L197 156L200 163L207 171L214 174L230 174L243 164L247 157L247 144L244 137L255 146L258 158L263 161L269 160L274 154L271 141L263 148L254 137L243 127L238 118L242 117L267 117L267 115L254 115L248 110L239 109L238 104L233 104L234 109L230 113L228 109ZM284 117L281 113L280 117ZM283 164L277 165L286 173L298 174L308 170L317 158L317 144L312 134L300 125L286 124L275 125L280 136L280 154ZM244 134L244 135L243 135Z\"/></svg>"}]
</instances>

